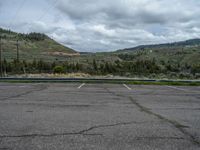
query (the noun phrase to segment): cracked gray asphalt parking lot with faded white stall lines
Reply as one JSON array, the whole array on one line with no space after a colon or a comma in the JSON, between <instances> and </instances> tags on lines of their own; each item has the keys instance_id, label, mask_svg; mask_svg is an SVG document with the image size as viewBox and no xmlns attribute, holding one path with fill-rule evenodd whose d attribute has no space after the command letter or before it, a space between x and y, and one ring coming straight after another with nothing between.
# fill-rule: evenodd
<instances>
[{"instance_id":1,"label":"cracked gray asphalt parking lot with faded white stall lines","mask_svg":"<svg viewBox=\"0 0 200 150\"><path fill-rule=\"evenodd\" d=\"M200 87L0 83L0 150L199 150Z\"/></svg>"}]
</instances>

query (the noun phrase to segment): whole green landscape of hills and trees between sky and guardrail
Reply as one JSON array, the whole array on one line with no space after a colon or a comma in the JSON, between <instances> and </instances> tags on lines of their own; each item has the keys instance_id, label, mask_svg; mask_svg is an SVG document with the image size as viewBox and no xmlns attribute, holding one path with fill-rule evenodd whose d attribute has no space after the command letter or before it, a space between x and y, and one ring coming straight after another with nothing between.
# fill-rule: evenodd
<instances>
[{"instance_id":1,"label":"whole green landscape of hills and trees between sky and guardrail","mask_svg":"<svg viewBox=\"0 0 200 150\"><path fill-rule=\"evenodd\" d=\"M86 73L126 77L200 79L200 39L143 45L102 53L77 53L40 33L2 30L2 74ZM19 40L19 60L17 55ZM76 56L76 57L71 57Z\"/></svg>"}]
</instances>

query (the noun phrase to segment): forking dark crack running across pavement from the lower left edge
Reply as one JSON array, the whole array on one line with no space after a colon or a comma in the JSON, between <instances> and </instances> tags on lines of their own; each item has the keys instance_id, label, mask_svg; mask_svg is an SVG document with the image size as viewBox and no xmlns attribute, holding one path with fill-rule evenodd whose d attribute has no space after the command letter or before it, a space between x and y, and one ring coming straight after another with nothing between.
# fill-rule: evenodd
<instances>
[{"instance_id":1,"label":"forking dark crack running across pavement from the lower left edge","mask_svg":"<svg viewBox=\"0 0 200 150\"><path fill-rule=\"evenodd\" d=\"M67 135L103 135L103 134L95 134L95 133L91 133L89 134L89 131L92 131L94 129L98 129L98 128L107 128L107 127L114 127L114 126L122 126L122 125L130 125L130 124L137 124L137 123L141 123L141 122L135 122L135 121L131 121L131 122L121 122L121 123L115 123L115 124L108 124L108 125L95 125L92 126L88 129L84 129L81 130L79 132L66 132L66 133L51 133L51 134L22 134L22 135L0 135L0 138L26 138L26 137L54 137L54 136L67 136Z\"/></svg>"}]
</instances>

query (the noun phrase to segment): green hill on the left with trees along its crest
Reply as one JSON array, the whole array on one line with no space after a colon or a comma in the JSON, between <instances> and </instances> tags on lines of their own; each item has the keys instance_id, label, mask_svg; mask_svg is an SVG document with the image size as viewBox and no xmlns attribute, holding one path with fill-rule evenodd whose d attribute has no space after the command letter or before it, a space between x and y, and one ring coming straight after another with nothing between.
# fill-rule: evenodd
<instances>
[{"instance_id":1,"label":"green hill on the left with trees along its crest","mask_svg":"<svg viewBox=\"0 0 200 150\"><path fill-rule=\"evenodd\" d=\"M75 50L41 33L22 34L0 28L0 36L2 55L6 59L16 58L17 40L19 57L24 60L65 60L69 56L79 55Z\"/></svg>"}]
</instances>

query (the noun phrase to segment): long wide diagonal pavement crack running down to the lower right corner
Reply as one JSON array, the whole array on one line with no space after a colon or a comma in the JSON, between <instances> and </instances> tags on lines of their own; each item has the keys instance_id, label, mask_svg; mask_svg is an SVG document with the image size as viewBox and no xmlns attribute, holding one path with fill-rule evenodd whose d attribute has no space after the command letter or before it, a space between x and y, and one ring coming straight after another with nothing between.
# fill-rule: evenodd
<instances>
[{"instance_id":1,"label":"long wide diagonal pavement crack running down to the lower right corner","mask_svg":"<svg viewBox=\"0 0 200 150\"><path fill-rule=\"evenodd\" d=\"M157 114L153 111L151 111L149 108L141 105L136 99L134 99L133 97L131 96L126 96L126 95L123 95L123 94L118 94L118 93L115 93L113 91L110 91L108 88L105 88L105 90L111 94L114 94L115 96L120 96L120 97L124 97L124 98L127 98L129 99L135 106L137 106L140 111L142 112L145 112L149 115L152 115L152 116L155 116L157 117L158 119L160 120L163 120L169 124L171 124L173 127L175 127L176 129L178 129L185 137L187 137L188 140L190 140L193 144L197 145L200 147L200 141L194 136L192 135L191 133L189 133L188 131L186 131L184 128L186 128L187 126L184 126L182 125L181 123L175 121L175 120L170 120L160 114Z\"/></svg>"}]
</instances>

